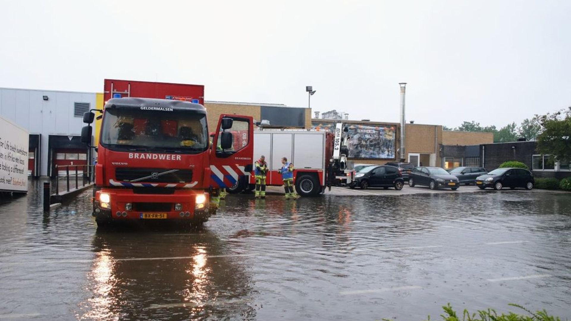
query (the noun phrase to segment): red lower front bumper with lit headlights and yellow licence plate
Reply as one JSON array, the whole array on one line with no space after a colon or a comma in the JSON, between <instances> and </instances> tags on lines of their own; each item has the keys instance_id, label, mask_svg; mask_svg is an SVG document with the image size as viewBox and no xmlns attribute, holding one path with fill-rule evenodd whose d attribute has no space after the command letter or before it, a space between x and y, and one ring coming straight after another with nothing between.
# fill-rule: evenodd
<instances>
[{"instance_id":1,"label":"red lower front bumper with lit headlights and yellow licence plate","mask_svg":"<svg viewBox=\"0 0 571 321\"><path fill-rule=\"evenodd\" d=\"M99 201L100 193L110 195L107 205ZM204 220L211 215L208 194L203 204L196 206L196 195L202 190L176 190L174 194L135 194L123 188L102 188L95 194L93 216L98 220ZM126 204L131 203L131 210ZM182 205L175 210L175 204ZM103 205L103 206L102 206Z\"/></svg>"}]
</instances>

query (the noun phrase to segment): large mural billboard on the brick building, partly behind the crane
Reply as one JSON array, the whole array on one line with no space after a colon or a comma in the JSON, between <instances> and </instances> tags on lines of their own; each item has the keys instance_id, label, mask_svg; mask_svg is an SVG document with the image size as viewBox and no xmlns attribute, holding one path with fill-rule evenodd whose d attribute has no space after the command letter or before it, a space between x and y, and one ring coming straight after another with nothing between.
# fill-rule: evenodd
<instances>
[{"instance_id":1,"label":"large mural billboard on the brick building, partly behind the crane","mask_svg":"<svg viewBox=\"0 0 571 321\"><path fill-rule=\"evenodd\" d=\"M395 125L346 123L349 134L349 158L395 159ZM312 129L333 130L335 122L313 122Z\"/></svg>"}]
</instances>

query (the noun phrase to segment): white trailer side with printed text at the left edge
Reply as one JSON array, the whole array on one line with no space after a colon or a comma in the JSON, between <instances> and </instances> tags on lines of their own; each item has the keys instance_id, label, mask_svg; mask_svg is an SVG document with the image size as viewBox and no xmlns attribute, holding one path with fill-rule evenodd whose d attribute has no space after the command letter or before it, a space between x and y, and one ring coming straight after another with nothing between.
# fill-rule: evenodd
<instances>
[{"instance_id":1,"label":"white trailer side with printed text at the left edge","mask_svg":"<svg viewBox=\"0 0 571 321\"><path fill-rule=\"evenodd\" d=\"M29 133L0 117L0 191L28 191Z\"/></svg>"}]
</instances>

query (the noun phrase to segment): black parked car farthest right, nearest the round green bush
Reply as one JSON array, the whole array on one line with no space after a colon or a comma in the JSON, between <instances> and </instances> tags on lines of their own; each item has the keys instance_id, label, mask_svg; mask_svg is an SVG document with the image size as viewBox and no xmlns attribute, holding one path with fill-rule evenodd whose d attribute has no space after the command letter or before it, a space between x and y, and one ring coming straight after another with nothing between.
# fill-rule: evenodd
<instances>
[{"instance_id":1,"label":"black parked car farthest right, nearest the round green bush","mask_svg":"<svg viewBox=\"0 0 571 321\"><path fill-rule=\"evenodd\" d=\"M527 190L533 188L535 179L530 171L522 168L497 168L486 175L476 178L476 185L480 189L493 187L494 190L501 190L504 187L516 188L524 187Z\"/></svg>"}]
</instances>

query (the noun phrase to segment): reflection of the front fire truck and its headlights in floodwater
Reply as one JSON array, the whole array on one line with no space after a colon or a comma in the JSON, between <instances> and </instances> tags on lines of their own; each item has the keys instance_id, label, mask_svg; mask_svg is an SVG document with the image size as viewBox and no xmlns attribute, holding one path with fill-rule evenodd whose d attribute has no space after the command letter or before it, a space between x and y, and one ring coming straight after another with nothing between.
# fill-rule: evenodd
<instances>
[{"instance_id":1,"label":"reflection of the front fire truck and its headlights in floodwater","mask_svg":"<svg viewBox=\"0 0 571 321\"><path fill-rule=\"evenodd\" d=\"M247 272L210 231L97 232L93 251L79 319L199 320L226 317L228 308L255 315Z\"/></svg>"}]
</instances>

